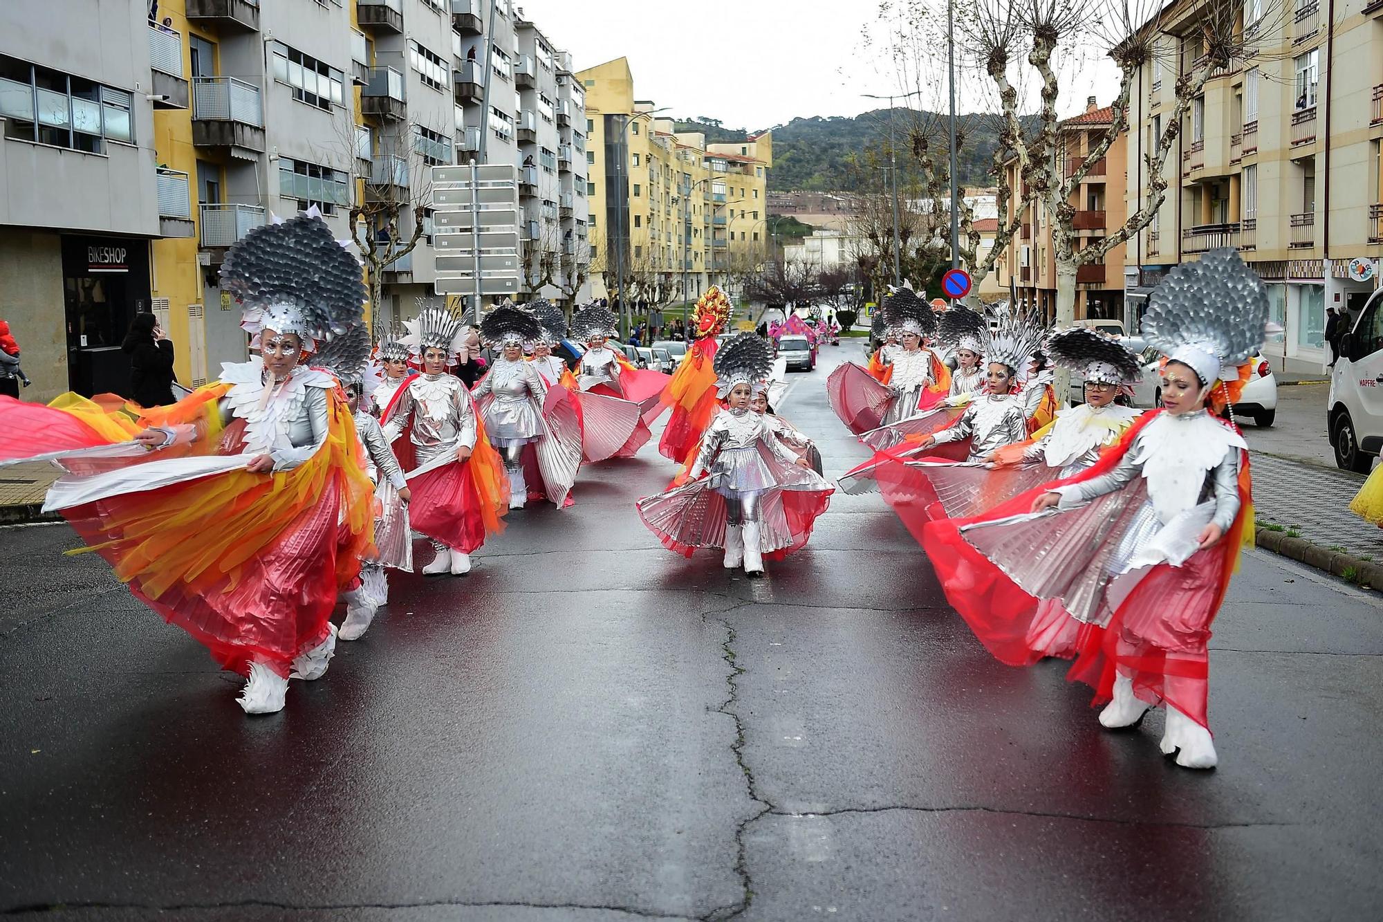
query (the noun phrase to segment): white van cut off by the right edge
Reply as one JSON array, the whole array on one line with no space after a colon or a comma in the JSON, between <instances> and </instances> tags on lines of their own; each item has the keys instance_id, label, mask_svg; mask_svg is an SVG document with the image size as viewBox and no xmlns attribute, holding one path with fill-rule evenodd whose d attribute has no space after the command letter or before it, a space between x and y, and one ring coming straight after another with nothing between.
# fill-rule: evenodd
<instances>
[{"instance_id":1,"label":"white van cut off by the right edge","mask_svg":"<svg viewBox=\"0 0 1383 922\"><path fill-rule=\"evenodd\" d=\"M1340 341L1330 375L1329 432L1335 464L1368 473L1383 451L1383 288L1369 295Z\"/></svg>"}]
</instances>

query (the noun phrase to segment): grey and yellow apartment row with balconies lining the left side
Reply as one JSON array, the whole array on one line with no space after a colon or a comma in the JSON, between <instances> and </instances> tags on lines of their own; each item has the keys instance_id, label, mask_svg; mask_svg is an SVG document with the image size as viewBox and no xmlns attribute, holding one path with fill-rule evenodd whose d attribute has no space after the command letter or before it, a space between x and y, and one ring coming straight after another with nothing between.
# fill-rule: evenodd
<instances>
[{"instance_id":1,"label":"grey and yellow apartment row with balconies lining the left side","mask_svg":"<svg viewBox=\"0 0 1383 922\"><path fill-rule=\"evenodd\" d=\"M426 235L371 306L383 323L411 316L436 280L429 168L477 156L481 137L485 162L524 162L521 24L508 0L0 4L0 291L36 382L25 397L124 389L119 343L141 310L170 334L183 383L243 360L220 264L250 228L310 206L343 239L357 205L396 204L400 237L423 213ZM582 93L567 55L527 33L553 87L541 161L578 143L561 122L584 125ZM560 170L542 201L579 239ZM366 219L358 233L387 234Z\"/></svg>"}]
</instances>

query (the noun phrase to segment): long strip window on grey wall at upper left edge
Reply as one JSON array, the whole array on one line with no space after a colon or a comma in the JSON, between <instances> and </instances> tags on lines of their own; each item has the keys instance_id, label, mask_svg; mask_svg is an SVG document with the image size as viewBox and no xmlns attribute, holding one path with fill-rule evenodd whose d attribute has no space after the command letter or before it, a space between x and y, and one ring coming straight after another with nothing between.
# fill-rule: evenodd
<instances>
[{"instance_id":1,"label":"long strip window on grey wall at upper left edge","mask_svg":"<svg viewBox=\"0 0 1383 922\"><path fill-rule=\"evenodd\" d=\"M104 154L108 140L134 144L133 104L124 90L0 55L6 137Z\"/></svg>"}]
</instances>

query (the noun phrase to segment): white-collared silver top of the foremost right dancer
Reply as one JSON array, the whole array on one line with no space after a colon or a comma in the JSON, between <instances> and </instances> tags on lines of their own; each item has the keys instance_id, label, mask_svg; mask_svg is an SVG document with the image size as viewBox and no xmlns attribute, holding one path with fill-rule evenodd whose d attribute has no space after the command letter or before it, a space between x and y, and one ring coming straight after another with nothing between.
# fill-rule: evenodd
<instances>
[{"instance_id":1,"label":"white-collared silver top of the foremost right dancer","mask_svg":"<svg viewBox=\"0 0 1383 922\"><path fill-rule=\"evenodd\" d=\"M1243 436L1205 410L1160 413L1134 436L1119 465L1098 478L1057 487L1058 508L1069 509L1142 475L1148 504L1166 525L1181 512L1214 500L1212 522L1227 532L1239 514L1239 451Z\"/></svg>"}]
</instances>

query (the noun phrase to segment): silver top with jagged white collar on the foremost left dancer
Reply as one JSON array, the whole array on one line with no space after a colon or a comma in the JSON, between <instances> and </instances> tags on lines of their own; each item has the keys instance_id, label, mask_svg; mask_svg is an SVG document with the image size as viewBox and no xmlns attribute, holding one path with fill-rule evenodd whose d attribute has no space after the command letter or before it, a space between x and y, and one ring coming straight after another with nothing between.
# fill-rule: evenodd
<instances>
[{"instance_id":1,"label":"silver top with jagged white collar on the foremost left dancer","mask_svg":"<svg viewBox=\"0 0 1383 922\"><path fill-rule=\"evenodd\" d=\"M292 471L326 440L326 392L336 378L306 365L281 382L266 383L267 377L259 356L221 365L221 381L231 385L219 404L221 422L245 419L242 453L267 454L275 471Z\"/></svg>"}]
</instances>

